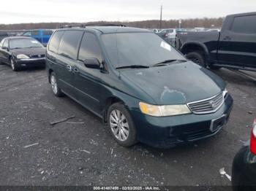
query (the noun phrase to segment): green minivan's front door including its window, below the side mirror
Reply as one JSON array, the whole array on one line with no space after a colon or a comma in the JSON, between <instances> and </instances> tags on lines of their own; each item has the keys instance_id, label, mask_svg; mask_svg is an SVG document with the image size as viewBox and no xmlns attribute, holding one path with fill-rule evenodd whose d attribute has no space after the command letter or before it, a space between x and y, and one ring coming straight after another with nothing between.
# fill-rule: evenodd
<instances>
[{"instance_id":1,"label":"green minivan's front door including its window, below the side mirror","mask_svg":"<svg viewBox=\"0 0 256 191\"><path fill-rule=\"evenodd\" d=\"M84 34L78 52L75 87L78 88L78 101L92 112L101 115L102 72L99 69L86 68L83 64L86 58L97 58L102 63L102 51L97 36L88 32Z\"/></svg>"}]
</instances>

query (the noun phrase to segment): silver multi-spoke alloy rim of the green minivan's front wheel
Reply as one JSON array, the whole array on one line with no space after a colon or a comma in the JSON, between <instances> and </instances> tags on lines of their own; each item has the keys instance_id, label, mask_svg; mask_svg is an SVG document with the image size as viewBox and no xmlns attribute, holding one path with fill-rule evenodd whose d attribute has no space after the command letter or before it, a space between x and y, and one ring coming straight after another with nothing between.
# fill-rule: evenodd
<instances>
[{"instance_id":1,"label":"silver multi-spoke alloy rim of the green minivan's front wheel","mask_svg":"<svg viewBox=\"0 0 256 191\"><path fill-rule=\"evenodd\" d=\"M126 141L129 136L129 124L125 115L118 109L110 113L110 128L119 141Z\"/></svg>"}]
</instances>

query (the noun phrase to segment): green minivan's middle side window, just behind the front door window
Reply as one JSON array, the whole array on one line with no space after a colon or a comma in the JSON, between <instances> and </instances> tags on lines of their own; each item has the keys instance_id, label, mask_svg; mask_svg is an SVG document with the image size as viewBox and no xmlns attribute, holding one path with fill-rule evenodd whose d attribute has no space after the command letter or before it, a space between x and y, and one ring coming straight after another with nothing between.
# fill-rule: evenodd
<instances>
[{"instance_id":1,"label":"green minivan's middle side window, just behind the front door window","mask_svg":"<svg viewBox=\"0 0 256 191\"><path fill-rule=\"evenodd\" d=\"M83 31L65 31L59 44L59 55L76 60L82 36Z\"/></svg>"}]
</instances>

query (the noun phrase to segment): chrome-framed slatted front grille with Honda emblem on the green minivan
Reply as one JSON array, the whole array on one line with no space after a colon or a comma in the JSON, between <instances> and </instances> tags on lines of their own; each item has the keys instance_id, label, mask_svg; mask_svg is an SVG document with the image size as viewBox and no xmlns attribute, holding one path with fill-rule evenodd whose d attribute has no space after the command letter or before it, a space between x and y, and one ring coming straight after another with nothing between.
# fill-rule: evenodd
<instances>
[{"instance_id":1,"label":"chrome-framed slatted front grille with Honda emblem on the green minivan","mask_svg":"<svg viewBox=\"0 0 256 191\"><path fill-rule=\"evenodd\" d=\"M189 104L189 109L195 114L208 114L216 112L224 103L226 92L219 93L212 98L194 101Z\"/></svg>"}]
</instances>

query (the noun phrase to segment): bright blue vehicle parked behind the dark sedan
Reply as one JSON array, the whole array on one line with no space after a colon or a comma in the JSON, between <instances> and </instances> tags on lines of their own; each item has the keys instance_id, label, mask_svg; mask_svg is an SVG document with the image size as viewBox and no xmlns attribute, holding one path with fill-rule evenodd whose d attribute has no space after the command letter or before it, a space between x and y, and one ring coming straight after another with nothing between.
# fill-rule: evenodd
<instances>
[{"instance_id":1,"label":"bright blue vehicle parked behind the dark sedan","mask_svg":"<svg viewBox=\"0 0 256 191\"><path fill-rule=\"evenodd\" d=\"M41 42L46 47L50 39L50 36L52 34L53 34L53 30L39 29L39 30L26 31L22 34L22 36L30 36L34 39L37 39L37 41Z\"/></svg>"}]
</instances>

